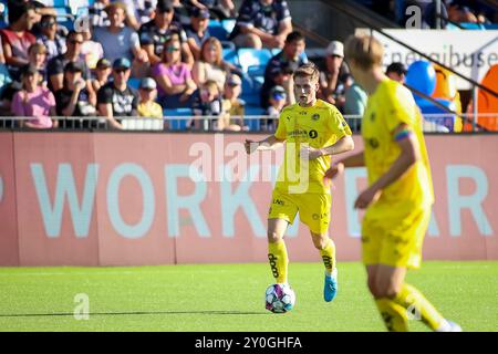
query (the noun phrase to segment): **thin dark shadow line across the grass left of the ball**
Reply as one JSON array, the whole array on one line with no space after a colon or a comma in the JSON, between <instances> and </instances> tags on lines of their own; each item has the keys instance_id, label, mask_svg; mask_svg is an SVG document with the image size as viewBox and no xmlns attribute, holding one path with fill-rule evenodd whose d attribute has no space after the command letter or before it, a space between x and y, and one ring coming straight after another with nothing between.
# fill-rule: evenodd
<instances>
[{"instance_id":1,"label":"thin dark shadow line across the grass left of the ball","mask_svg":"<svg viewBox=\"0 0 498 354\"><path fill-rule=\"evenodd\" d=\"M134 312L90 312L90 316L116 316L116 315L170 315L170 314L208 314L208 315L243 315L259 314L267 315L266 312L251 311L134 311ZM80 313L76 313L80 315ZM43 316L74 316L74 313L14 313L0 314L0 317L43 317Z\"/></svg>"}]
</instances>

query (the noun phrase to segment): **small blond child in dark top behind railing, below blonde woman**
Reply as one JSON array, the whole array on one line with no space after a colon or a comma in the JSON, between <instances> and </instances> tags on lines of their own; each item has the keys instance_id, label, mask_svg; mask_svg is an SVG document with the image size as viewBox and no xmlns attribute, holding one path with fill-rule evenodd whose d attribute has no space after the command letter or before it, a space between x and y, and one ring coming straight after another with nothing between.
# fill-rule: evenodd
<instances>
[{"instance_id":1,"label":"small blond child in dark top behind railing, below blonde woman","mask_svg":"<svg viewBox=\"0 0 498 354\"><path fill-rule=\"evenodd\" d=\"M193 105L195 116L211 116L204 121L205 131L222 131L224 129L224 111L218 83L214 80L206 81L199 88L200 93L196 96ZM218 116L218 118L212 118ZM201 121L194 119L190 122L190 128L201 128Z\"/></svg>"}]
</instances>

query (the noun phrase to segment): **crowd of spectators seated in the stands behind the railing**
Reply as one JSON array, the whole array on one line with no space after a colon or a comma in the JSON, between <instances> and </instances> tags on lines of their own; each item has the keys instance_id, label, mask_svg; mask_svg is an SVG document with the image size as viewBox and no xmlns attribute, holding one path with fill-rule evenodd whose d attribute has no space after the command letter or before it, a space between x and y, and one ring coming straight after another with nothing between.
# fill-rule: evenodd
<instances>
[{"instance_id":1,"label":"crowd of spectators seated in the stands behind the railing","mask_svg":"<svg viewBox=\"0 0 498 354\"><path fill-rule=\"evenodd\" d=\"M292 73L308 62L286 0L245 0L239 9L232 0L94 0L70 25L54 1L44 2L9 1L0 28L0 115L32 118L21 126L123 129L126 116L163 118L188 108L211 119L191 119L185 129L241 131L252 107L267 116L259 128L274 129L282 107L294 103ZM227 19L231 32L211 33L210 23ZM259 73L228 59L247 48L272 55ZM343 44L332 41L323 62L319 98L362 115L366 94ZM85 116L100 118L54 119Z\"/></svg>"}]
</instances>

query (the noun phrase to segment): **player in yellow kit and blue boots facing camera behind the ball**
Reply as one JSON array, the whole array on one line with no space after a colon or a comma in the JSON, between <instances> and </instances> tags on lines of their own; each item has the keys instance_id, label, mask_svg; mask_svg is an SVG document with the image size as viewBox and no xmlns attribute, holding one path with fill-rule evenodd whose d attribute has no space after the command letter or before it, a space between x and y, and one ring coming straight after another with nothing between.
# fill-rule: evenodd
<instances>
[{"instance_id":1,"label":"player in yellow kit and blue boots facing camera behind the ball","mask_svg":"<svg viewBox=\"0 0 498 354\"><path fill-rule=\"evenodd\" d=\"M325 266L323 296L335 298L338 278L335 246L329 238L330 186L323 177L331 155L353 149L351 129L338 108L317 100L319 71L313 64L300 66L293 74L297 104L284 107L274 135L263 140L246 140L248 154L286 144L286 160L280 167L268 215L268 258L277 283L287 283L288 256L283 241L295 214L308 226Z\"/></svg>"}]
</instances>

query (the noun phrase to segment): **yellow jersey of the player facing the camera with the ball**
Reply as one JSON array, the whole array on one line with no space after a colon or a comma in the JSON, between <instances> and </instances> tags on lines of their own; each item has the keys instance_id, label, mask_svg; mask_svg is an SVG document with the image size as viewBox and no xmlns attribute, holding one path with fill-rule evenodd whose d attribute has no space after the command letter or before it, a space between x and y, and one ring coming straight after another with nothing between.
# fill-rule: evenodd
<instances>
[{"instance_id":1,"label":"yellow jersey of the player facing the camera with the ball","mask_svg":"<svg viewBox=\"0 0 498 354\"><path fill-rule=\"evenodd\" d=\"M280 113L274 136L286 140L284 162L280 167L276 189L283 192L330 192L323 176L331 156L321 156L309 163L300 160L301 144L322 148L335 144L351 129L335 106L318 100L311 107L293 104ZM302 170L301 170L302 169Z\"/></svg>"}]
</instances>

